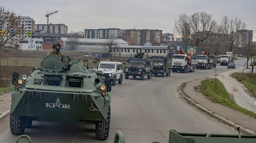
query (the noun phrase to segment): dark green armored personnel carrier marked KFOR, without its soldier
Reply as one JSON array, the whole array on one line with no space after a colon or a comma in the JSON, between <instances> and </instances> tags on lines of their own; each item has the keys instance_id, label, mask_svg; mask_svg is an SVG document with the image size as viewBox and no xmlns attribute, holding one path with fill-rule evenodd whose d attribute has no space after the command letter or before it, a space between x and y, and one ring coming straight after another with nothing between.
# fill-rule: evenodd
<instances>
[{"instance_id":1,"label":"dark green armored personnel carrier marked KFOR, without its soldier","mask_svg":"<svg viewBox=\"0 0 256 143\"><path fill-rule=\"evenodd\" d=\"M54 62L52 62L54 61ZM23 134L33 120L96 122L96 138L106 140L110 127L111 81L102 71L86 69L78 59L63 68L55 55L44 57L40 68L18 78L13 73L10 129Z\"/></svg>"}]
</instances>

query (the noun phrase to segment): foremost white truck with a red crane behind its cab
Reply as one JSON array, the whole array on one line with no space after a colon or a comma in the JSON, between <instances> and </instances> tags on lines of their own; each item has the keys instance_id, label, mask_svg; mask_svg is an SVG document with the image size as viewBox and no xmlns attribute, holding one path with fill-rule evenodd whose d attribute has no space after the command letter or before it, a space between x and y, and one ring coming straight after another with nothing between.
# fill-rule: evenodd
<instances>
[{"instance_id":1,"label":"foremost white truck with a red crane behind its cab","mask_svg":"<svg viewBox=\"0 0 256 143\"><path fill-rule=\"evenodd\" d=\"M187 55L184 51L178 51L172 55L172 72L195 72L198 62L196 57Z\"/></svg>"}]
</instances>

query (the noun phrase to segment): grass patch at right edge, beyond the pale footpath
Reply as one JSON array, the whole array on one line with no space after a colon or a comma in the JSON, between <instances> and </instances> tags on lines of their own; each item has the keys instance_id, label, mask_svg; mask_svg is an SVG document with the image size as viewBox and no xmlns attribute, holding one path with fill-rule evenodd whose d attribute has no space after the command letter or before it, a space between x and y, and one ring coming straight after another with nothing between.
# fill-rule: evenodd
<instances>
[{"instance_id":1,"label":"grass patch at right edge, beyond the pale footpath","mask_svg":"<svg viewBox=\"0 0 256 143\"><path fill-rule=\"evenodd\" d=\"M242 83L256 98L256 74L253 73L233 73L231 77L236 78L240 83ZM241 77L241 80L240 80Z\"/></svg>"}]
</instances>

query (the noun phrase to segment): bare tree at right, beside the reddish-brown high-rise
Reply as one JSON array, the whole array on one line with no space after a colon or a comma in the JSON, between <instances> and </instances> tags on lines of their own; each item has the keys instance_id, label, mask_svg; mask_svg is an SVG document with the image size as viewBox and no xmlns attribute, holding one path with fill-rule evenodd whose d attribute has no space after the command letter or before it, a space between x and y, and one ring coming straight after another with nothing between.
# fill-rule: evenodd
<instances>
[{"instance_id":1,"label":"bare tree at right, beside the reddish-brown high-rise","mask_svg":"<svg viewBox=\"0 0 256 143\"><path fill-rule=\"evenodd\" d=\"M223 35L223 42L221 48L224 51L233 51L241 42L240 30L246 29L246 24L237 17L235 19L228 19L226 16L221 20L220 32Z\"/></svg>"}]
</instances>

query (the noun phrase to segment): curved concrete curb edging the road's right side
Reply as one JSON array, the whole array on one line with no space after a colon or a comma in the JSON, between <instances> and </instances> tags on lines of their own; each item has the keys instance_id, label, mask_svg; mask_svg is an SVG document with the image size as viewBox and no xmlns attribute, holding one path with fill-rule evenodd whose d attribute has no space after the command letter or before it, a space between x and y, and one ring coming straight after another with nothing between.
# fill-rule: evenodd
<instances>
[{"instance_id":1,"label":"curved concrete curb edging the road's right side","mask_svg":"<svg viewBox=\"0 0 256 143\"><path fill-rule=\"evenodd\" d=\"M204 78L210 78L210 77L203 77L203 78L198 78L198 79L194 79L194 80L200 80L200 79L204 79ZM206 109L206 108L204 108L203 106L201 106L201 105L195 103L195 101L193 101L192 99L190 99L189 97L187 97L187 96L182 92L182 86L186 85L186 83L188 83L188 82L190 82L190 81L193 81L193 80L189 80L189 81L187 81L187 82L185 82L185 83L182 83L181 86L180 86L180 88L179 88L179 92L180 92L180 94L183 96L183 98L185 98L186 100L190 101L190 103L192 103L193 106L195 106L195 107L197 107L198 109L200 109L200 110L202 110L202 111L204 111L204 112L206 112L206 113L212 115L213 117L217 118L218 120L221 120L223 123L226 123L227 125L232 126L232 127L235 128L235 129L237 129L237 128L239 127L239 128L240 128L240 129L239 129L240 132L246 132L247 134L252 134L252 135L255 135L255 134L256 134L256 133L253 132L253 131L250 131L250 130L248 130L248 129L245 129L245 128L242 127L242 126L239 126L239 125L233 123L232 121L227 120L227 119L225 119L224 117L221 117L221 116L219 116L218 114L215 114L215 113L209 111L208 109Z\"/></svg>"}]
</instances>

